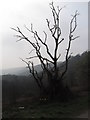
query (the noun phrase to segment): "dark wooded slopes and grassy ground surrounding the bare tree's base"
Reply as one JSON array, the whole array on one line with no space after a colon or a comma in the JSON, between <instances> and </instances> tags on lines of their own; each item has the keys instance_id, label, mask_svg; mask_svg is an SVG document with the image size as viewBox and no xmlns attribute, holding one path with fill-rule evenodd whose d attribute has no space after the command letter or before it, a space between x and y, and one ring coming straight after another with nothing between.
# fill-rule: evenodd
<instances>
[{"instance_id":1,"label":"dark wooded slopes and grassy ground surrounding the bare tree's base","mask_svg":"<svg viewBox=\"0 0 90 120\"><path fill-rule=\"evenodd\" d=\"M39 89L32 76L4 75L2 77L3 117L68 118L88 109L88 96L85 91L88 90L89 56L90 52L84 52L82 55L71 57L64 84L71 88L75 96L74 99L68 99L68 101L64 102L57 100L51 103L48 100L40 99ZM63 63L58 66L61 65ZM82 96L83 94L84 96ZM24 109L19 109L20 106L24 106Z\"/></svg>"}]
</instances>

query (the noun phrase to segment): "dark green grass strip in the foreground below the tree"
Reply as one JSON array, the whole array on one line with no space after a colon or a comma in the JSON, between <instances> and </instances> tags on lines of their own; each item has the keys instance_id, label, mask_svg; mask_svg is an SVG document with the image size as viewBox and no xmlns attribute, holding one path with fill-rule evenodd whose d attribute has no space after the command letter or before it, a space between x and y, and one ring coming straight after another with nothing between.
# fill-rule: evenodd
<instances>
[{"instance_id":1,"label":"dark green grass strip in the foreground below the tree","mask_svg":"<svg viewBox=\"0 0 90 120\"><path fill-rule=\"evenodd\" d=\"M3 111L3 118L70 118L88 110L88 97L81 96L69 102L32 103L18 109L18 105Z\"/></svg>"}]
</instances>

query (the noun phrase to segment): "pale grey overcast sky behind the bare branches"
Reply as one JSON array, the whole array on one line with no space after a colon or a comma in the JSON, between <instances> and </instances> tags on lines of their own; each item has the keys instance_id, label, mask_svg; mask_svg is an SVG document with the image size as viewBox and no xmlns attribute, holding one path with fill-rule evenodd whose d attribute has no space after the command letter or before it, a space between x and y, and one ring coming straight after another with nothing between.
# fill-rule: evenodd
<instances>
[{"instance_id":1,"label":"pale grey overcast sky behind the bare branches","mask_svg":"<svg viewBox=\"0 0 90 120\"><path fill-rule=\"evenodd\" d=\"M60 15L62 37L65 38L65 41L62 43L58 51L58 53L62 54L60 60L64 60L68 44L69 23L71 15L73 15L76 10L78 10L80 15L77 19L78 27L74 35L79 35L80 38L73 41L70 52L73 52L73 55L76 55L88 50L88 2L77 1L78 0L75 0L74 2L74 0L72 0L62 3L61 0L55 0L54 2L55 6L66 6ZM3 69L25 66L19 58L25 59L26 57L29 57L28 53L32 50L27 42L16 42L17 38L14 37L16 32L11 30L10 27L16 28L19 26L31 40L33 40L32 35L27 32L24 25L30 27L30 24L33 23L34 29L38 31L42 38L44 37L43 31L46 31L48 34L47 43L53 54L54 43L50 37L46 24L46 18L52 21L52 14L49 7L50 2L51 0L2 0L2 2L0 2L0 45L2 47L2 50L0 50L0 59L2 58L0 68L1 65ZM46 55L43 47L42 53ZM35 64L39 64L38 60L33 61Z\"/></svg>"}]
</instances>

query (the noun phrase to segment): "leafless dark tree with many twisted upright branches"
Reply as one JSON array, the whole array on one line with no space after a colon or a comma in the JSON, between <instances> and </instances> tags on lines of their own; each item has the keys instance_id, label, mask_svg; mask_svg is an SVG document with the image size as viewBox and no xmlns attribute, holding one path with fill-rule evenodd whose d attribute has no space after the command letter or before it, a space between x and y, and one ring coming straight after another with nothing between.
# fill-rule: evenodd
<instances>
[{"instance_id":1,"label":"leafless dark tree with many twisted upright branches","mask_svg":"<svg viewBox=\"0 0 90 120\"><path fill-rule=\"evenodd\" d=\"M75 12L75 14L72 16L72 19L70 21L70 31L69 31L69 38L68 38L69 41L68 41L68 47L66 49L66 55L65 55L65 69L59 75L57 63L58 63L58 60L59 60L61 54L58 54L58 48L60 47L61 43L64 41L64 38L61 39L62 30L60 27L60 13L63 8L59 8L59 6L57 8L55 8L53 2L50 3L50 8L51 8L52 15L53 15L53 20L52 20L53 26L51 26L51 22L48 19L46 19L46 21L47 21L48 29L49 29L49 31L52 35L52 38L54 39L54 42L55 42L54 55L52 55L52 53L49 50L49 46L47 45L47 36L48 35L45 31L44 31L44 38L42 39L40 37L40 35L38 34L38 32L33 29L32 24L31 24L31 29L29 29L28 27L25 26L25 28L30 33L33 34L34 39L35 39L35 42L33 42L21 31L21 29L19 27L17 27L17 29L14 29L14 28L12 28L12 29L18 33L18 35L16 35L16 37L19 38L18 41L21 41L21 40L27 41L33 47L33 50L35 50L36 55L27 58L28 62L23 59L22 59L22 61L27 64L27 67L29 68L29 72L32 73L33 77L35 78L35 80L37 82L38 87L40 88L40 90L42 90L42 89L45 90L48 93L48 96L50 98L55 98L56 95L60 94L63 90L62 80L68 69L68 60L71 56L69 53L70 47L71 47L71 42L79 37L79 36L74 37L74 35L73 35L73 33L75 32L75 30L77 28L78 12L77 11ZM42 55L41 46L39 43L41 43L42 46L45 47L46 53L49 56L48 58L45 58ZM41 76L39 76L38 72L35 70L34 63L31 62L31 59L33 59L33 58L38 58L41 63L41 68L42 68ZM52 64L52 66L51 66L51 64ZM48 79L47 87L45 87L43 84L44 73L47 75L47 79Z\"/></svg>"}]
</instances>

